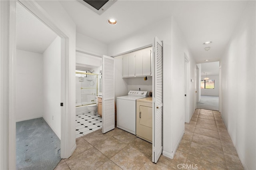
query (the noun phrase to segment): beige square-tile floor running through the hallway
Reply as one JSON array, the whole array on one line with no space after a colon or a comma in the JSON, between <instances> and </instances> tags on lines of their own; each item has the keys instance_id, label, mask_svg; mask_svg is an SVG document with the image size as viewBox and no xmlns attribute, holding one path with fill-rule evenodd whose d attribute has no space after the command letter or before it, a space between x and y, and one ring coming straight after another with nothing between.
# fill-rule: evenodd
<instances>
[{"instance_id":1,"label":"beige square-tile floor running through the hallway","mask_svg":"<svg viewBox=\"0 0 256 170\"><path fill-rule=\"evenodd\" d=\"M152 163L152 144L119 128L76 139L77 148L56 170L240 170L243 166L218 111L196 109L174 159Z\"/></svg>"}]
</instances>

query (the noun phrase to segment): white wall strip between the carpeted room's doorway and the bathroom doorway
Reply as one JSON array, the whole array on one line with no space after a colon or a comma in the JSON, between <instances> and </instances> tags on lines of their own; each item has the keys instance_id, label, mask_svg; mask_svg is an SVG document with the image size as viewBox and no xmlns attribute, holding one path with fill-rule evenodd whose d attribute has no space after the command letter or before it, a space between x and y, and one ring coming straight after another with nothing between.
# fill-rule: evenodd
<instances>
[{"instance_id":1,"label":"white wall strip between the carpeted room's doorway and the bathroom doorway","mask_svg":"<svg viewBox=\"0 0 256 170\"><path fill-rule=\"evenodd\" d=\"M68 65L66 65L66 70L68 76L68 85L66 87L66 98L64 102L64 112L65 117L65 142L62 142L62 146L65 146L65 150L62 150L62 158L68 158L71 156L72 152L76 149L76 132L75 132L75 106L76 106L76 79L75 79L75 70L76 70L76 24L70 18L68 13L62 8L62 5L58 1L36 1L47 13L47 16L50 16L50 20L68 37ZM29 3L29 2L28 2ZM64 73L63 73L64 74ZM63 87L63 85L62 85ZM58 103L60 106L60 103Z\"/></svg>"}]
</instances>

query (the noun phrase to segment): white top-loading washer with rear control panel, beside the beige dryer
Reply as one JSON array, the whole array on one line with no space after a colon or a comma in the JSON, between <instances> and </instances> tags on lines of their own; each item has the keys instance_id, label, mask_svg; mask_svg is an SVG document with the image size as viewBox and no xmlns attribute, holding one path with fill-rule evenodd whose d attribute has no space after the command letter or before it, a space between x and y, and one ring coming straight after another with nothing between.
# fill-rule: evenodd
<instances>
[{"instance_id":1,"label":"white top-loading washer with rear control panel, beside the beige dryer","mask_svg":"<svg viewBox=\"0 0 256 170\"><path fill-rule=\"evenodd\" d=\"M136 100L145 98L148 91L130 90L116 97L116 127L136 135Z\"/></svg>"}]
</instances>

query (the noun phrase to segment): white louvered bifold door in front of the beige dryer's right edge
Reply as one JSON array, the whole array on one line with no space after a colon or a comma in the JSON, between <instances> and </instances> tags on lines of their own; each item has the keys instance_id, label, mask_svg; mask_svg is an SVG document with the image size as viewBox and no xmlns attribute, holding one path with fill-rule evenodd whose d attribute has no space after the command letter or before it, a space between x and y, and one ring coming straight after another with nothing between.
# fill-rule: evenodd
<instances>
[{"instance_id":1,"label":"white louvered bifold door in front of the beige dryer's right edge","mask_svg":"<svg viewBox=\"0 0 256 170\"><path fill-rule=\"evenodd\" d=\"M162 154L162 107L163 107L163 43L154 38L153 44L153 138L152 162L157 162Z\"/></svg>"}]
</instances>

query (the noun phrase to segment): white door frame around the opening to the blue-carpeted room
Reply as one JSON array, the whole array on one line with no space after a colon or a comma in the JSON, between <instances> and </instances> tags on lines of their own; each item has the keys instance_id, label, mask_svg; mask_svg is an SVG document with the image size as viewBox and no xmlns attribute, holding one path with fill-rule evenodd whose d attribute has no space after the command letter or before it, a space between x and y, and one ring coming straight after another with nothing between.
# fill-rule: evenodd
<instances>
[{"instance_id":1,"label":"white door frame around the opening to the blue-carpeted room","mask_svg":"<svg viewBox=\"0 0 256 170\"><path fill-rule=\"evenodd\" d=\"M36 18L41 20L46 26L53 30L61 38L61 102L64 103L61 107L61 158L68 158L71 156L72 152L75 150L76 146L70 150L70 133L71 133L71 117L70 117L70 67L69 67L69 38L66 36L60 28L52 21L50 15L42 8L36 1L6 1L1 2L1 8L7 8L7 10L1 12L1 19L6 17L5 20L1 20L2 25L6 24L5 29L1 29L1 35L6 35L4 39L8 43L5 45L1 43L1 49L4 49L3 53L6 54L6 61L1 63L1 65L6 63L4 68L6 71L5 75L1 75L1 83L4 81L4 78L9 80L7 82L6 93L8 101L3 103L3 106L6 107L8 116L2 116L1 111L1 122L6 122L4 125L1 125L1 129L6 129L5 132L1 133L1 138L8 136L8 138L1 143L1 148L6 148L0 156L0 168L4 169L16 169L16 3L20 3L24 8L30 11ZM9 36L9 37L8 37ZM2 38L1 38L2 40ZM1 61L2 54L1 52ZM2 69L1 69L2 71ZM1 91L2 92L2 91ZM1 94L2 97L2 94ZM5 106L6 105L6 106ZM2 107L2 99L1 99ZM1 132L4 130L1 130ZM2 151L1 151L2 152ZM5 157L5 158L4 158Z\"/></svg>"}]
</instances>

